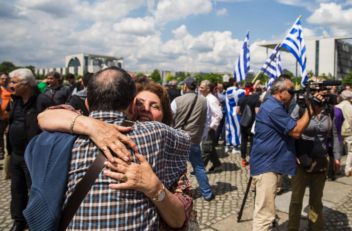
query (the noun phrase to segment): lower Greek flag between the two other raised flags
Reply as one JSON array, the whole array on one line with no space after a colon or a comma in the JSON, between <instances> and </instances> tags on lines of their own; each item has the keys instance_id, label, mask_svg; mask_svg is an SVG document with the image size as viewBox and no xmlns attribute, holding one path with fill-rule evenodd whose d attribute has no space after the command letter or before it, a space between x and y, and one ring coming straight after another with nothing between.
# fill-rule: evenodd
<instances>
[{"instance_id":1,"label":"lower Greek flag between the two other raised flags","mask_svg":"<svg viewBox=\"0 0 352 231\"><path fill-rule=\"evenodd\" d=\"M282 73L279 49L280 49L279 45L276 45L276 48L274 49L274 51L272 51L272 54L265 62L262 69L260 69L265 74L270 76L268 87L266 88L267 90L271 88L272 82L274 82L274 80L276 80L277 77L279 77Z\"/></svg>"}]
</instances>

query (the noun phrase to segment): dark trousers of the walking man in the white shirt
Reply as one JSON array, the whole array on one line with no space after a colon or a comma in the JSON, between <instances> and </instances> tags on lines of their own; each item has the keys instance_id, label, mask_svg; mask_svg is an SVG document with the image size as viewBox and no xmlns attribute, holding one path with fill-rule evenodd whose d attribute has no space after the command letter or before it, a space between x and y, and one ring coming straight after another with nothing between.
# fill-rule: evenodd
<instances>
[{"instance_id":1,"label":"dark trousers of the walking man in the white shirt","mask_svg":"<svg viewBox=\"0 0 352 231\"><path fill-rule=\"evenodd\" d=\"M204 162L204 167L207 166L209 160L213 163L213 166L218 166L221 164L218 152L216 152L214 145L215 131L212 129L208 132L208 138L206 141L202 142L202 158Z\"/></svg>"}]
</instances>

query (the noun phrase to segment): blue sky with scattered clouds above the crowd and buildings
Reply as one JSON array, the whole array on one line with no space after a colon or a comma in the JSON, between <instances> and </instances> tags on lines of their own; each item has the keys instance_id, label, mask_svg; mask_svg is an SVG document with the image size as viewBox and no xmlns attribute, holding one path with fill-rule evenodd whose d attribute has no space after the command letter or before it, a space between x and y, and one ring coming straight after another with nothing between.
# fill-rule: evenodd
<instances>
[{"instance_id":1,"label":"blue sky with scattered clouds above the crowd and buildings","mask_svg":"<svg viewBox=\"0 0 352 231\"><path fill-rule=\"evenodd\" d=\"M78 53L124 57L127 70L233 72L247 30L250 69L299 15L303 35L352 35L352 0L0 0L0 62L64 67ZM269 51L271 52L271 51ZM295 58L281 53L282 68Z\"/></svg>"}]
</instances>

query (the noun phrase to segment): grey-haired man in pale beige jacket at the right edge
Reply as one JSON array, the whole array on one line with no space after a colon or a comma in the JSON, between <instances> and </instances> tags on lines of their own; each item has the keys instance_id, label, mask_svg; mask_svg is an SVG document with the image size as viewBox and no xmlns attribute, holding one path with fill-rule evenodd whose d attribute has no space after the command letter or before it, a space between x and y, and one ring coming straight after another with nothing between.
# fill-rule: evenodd
<instances>
[{"instance_id":1,"label":"grey-haired man in pale beige jacket at the right edge","mask_svg":"<svg viewBox=\"0 0 352 231\"><path fill-rule=\"evenodd\" d=\"M345 176L350 176L352 170L352 92L344 90L341 93L341 97L342 101L336 107L341 109L342 115L345 118L341 126L341 136L347 146Z\"/></svg>"}]
</instances>

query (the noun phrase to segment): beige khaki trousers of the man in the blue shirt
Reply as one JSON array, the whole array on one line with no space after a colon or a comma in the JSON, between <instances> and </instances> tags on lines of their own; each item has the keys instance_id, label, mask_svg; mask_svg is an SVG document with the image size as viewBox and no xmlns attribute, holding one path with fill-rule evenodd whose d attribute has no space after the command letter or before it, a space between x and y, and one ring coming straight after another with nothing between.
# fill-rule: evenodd
<instances>
[{"instance_id":1,"label":"beige khaki trousers of the man in the blue shirt","mask_svg":"<svg viewBox=\"0 0 352 231\"><path fill-rule=\"evenodd\" d=\"M268 230L275 220L275 196L278 173L270 171L252 176L256 186L252 230Z\"/></svg>"}]
</instances>

